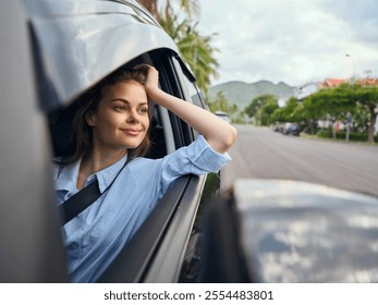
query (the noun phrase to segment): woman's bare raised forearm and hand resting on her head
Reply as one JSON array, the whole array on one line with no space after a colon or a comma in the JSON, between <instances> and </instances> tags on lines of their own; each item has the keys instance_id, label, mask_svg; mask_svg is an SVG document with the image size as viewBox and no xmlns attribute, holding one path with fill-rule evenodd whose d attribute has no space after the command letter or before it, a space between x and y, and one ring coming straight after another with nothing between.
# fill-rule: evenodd
<instances>
[{"instance_id":1,"label":"woman's bare raised forearm and hand resting on her head","mask_svg":"<svg viewBox=\"0 0 378 305\"><path fill-rule=\"evenodd\" d=\"M236 139L236 129L200 107L185 102L180 98L169 95L158 86L158 71L154 66L148 68L148 77L145 84L148 97L175 115L181 118L199 134L204 135L208 144L218 152L225 152Z\"/></svg>"}]
</instances>

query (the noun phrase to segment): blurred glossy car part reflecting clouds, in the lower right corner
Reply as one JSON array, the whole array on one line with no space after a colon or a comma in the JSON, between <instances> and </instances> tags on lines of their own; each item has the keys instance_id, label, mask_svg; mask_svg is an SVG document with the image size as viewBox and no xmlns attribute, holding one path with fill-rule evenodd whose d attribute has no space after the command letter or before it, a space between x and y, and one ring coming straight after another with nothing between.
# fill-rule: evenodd
<instances>
[{"instance_id":1,"label":"blurred glossy car part reflecting clouds, in the lower right corner","mask_svg":"<svg viewBox=\"0 0 378 305\"><path fill-rule=\"evenodd\" d=\"M378 281L377 198L279 180L239 180L233 191L252 281Z\"/></svg>"}]
</instances>

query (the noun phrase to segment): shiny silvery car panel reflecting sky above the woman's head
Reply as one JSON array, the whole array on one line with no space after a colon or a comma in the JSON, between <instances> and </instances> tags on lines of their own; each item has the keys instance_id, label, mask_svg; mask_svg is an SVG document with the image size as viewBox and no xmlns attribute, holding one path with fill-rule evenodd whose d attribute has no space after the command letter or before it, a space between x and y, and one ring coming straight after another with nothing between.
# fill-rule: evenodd
<instances>
[{"instance_id":1,"label":"shiny silvery car panel reflecting sky above the woman's head","mask_svg":"<svg viewBox=\"0 0 378 305\"><path fill-rule=\"evenodd\" d=\"M71 102L145 52L161 48L179 52L170 36L136 1L24 3L38 57L39 93L50 109Z\"/></svg>"}]
</instances>

